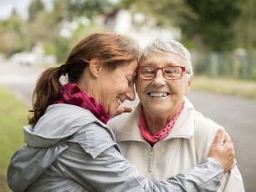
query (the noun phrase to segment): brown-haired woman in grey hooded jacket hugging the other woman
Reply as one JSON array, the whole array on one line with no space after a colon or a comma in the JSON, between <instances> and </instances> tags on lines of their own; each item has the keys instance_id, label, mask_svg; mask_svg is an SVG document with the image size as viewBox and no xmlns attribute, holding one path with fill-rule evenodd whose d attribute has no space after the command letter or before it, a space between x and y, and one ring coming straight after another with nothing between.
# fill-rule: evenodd
<instances>
[{"instance_id":1,"label":"brown-haired woman in grey hooded jacket hugging the other woman","mask_svg":"<svg viewBox=\"0 0 256 192\"><path fill-rule=\"evenodd\" d=\"M162 182L141 177L120 154L106 123L120 103L135 99L138 53L129 39L94 33L74 47L64 65L44 71L33 93L30 125L24 128L26 145L8 167L13 191L218 189L223 178L218 160L231 169L232 146L212 148L209 156L218 160L205 159L195 169ZM59 78L66 81L64 86Z\"/></svg>"}]
</instances>

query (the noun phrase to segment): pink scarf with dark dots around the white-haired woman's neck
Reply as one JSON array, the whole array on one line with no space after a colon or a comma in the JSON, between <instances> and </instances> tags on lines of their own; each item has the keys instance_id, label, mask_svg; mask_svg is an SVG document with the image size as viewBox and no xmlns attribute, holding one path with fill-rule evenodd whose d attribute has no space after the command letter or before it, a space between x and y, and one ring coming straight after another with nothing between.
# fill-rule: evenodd
<instances>
[{"instance_id":1,"label":"pink scarf with dark dots around the white-haired woman's neck","mask_svg":"<svg viewBox=\"0 0 256 192\"><path fill-rule=\"evenodd\" d=\"M165 139L166 136L171 132L172 127L176 123L177 118L182 113L182 109L183 109L183 106L181 107L181 109L179 109L178 113L169 122L169 124L166 125L166 127L157 131L156 134L151 134L149 132L149 130L147 129L147 127L146 127L146 120L145 120L145 116L144 116L144 111L143 111L143 107L141 107L140 129L141 129L141 134L142 134L143 138L146 139L149 142L149 144L151 144L151 146L156 144L161 139Z\"/></svg>"}]
</instances>

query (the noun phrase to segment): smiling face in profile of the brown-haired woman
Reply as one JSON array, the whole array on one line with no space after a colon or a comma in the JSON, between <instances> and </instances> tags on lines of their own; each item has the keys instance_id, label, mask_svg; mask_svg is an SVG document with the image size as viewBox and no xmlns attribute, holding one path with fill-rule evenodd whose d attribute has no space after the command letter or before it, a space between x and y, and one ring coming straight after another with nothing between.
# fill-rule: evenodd
<instances>
[{"instance_id":1,"label":"smiling face in profile of the brown-haired woman","mask_svg":"<svg viewBox=\"0 0 256 192\"><path fill-rule=\"evenodd\" d=\"M124 64L115 70L102 68L99 76L100 104L110 117L115 115L121 103L135 99L134 80L136 78L137 61Z\"/></svg>"}]
</instances>

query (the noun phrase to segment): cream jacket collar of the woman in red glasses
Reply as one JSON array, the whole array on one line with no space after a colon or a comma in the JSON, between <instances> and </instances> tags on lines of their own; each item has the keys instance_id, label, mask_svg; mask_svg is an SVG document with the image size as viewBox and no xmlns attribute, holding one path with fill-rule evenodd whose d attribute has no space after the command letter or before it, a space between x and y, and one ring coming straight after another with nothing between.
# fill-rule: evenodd
<instances>
[{"instance_id":1,"label":"cream jacket collar of the woman in red glasses","mask_svg":"<svg viewBox=\"0 0 256 192\"><path fill-rule=\"evenodd\" d=\"M185 138L189 139L194 135L194 119L196 116L196 111L192 105L192 103L184 97L183 99L184 108L182 109L182 113L177 119L176 124L173 126L172 131L168 136L163 139L173 139L173 138ZM141 141L146 142L141 135L141 131L139 129L140 125L140 112L141 112L141 103L136 106L131 114L127 115L128 117L124 119L123 124L120 125L120 129L116 134L116 141Z\"/></svg>"}]
</instances>

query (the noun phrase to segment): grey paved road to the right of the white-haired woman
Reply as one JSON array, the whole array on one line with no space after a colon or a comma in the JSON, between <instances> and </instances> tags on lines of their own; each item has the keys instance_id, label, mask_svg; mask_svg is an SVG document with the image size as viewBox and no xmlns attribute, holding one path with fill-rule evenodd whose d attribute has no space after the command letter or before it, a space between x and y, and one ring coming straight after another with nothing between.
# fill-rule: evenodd
<instances>
[{"instance_id":1,"label":"grey paved road to the right of the white-haired woman","mask_svg":"<svg viewBox=\"0 0 256 192\"><path fill-rule=\"evenodd\" d=\"M210 93L192 93L189 98L198 111L228 130L233 139L245 191L256 191L256 100Z\"/></svg>"}]
</instances>

